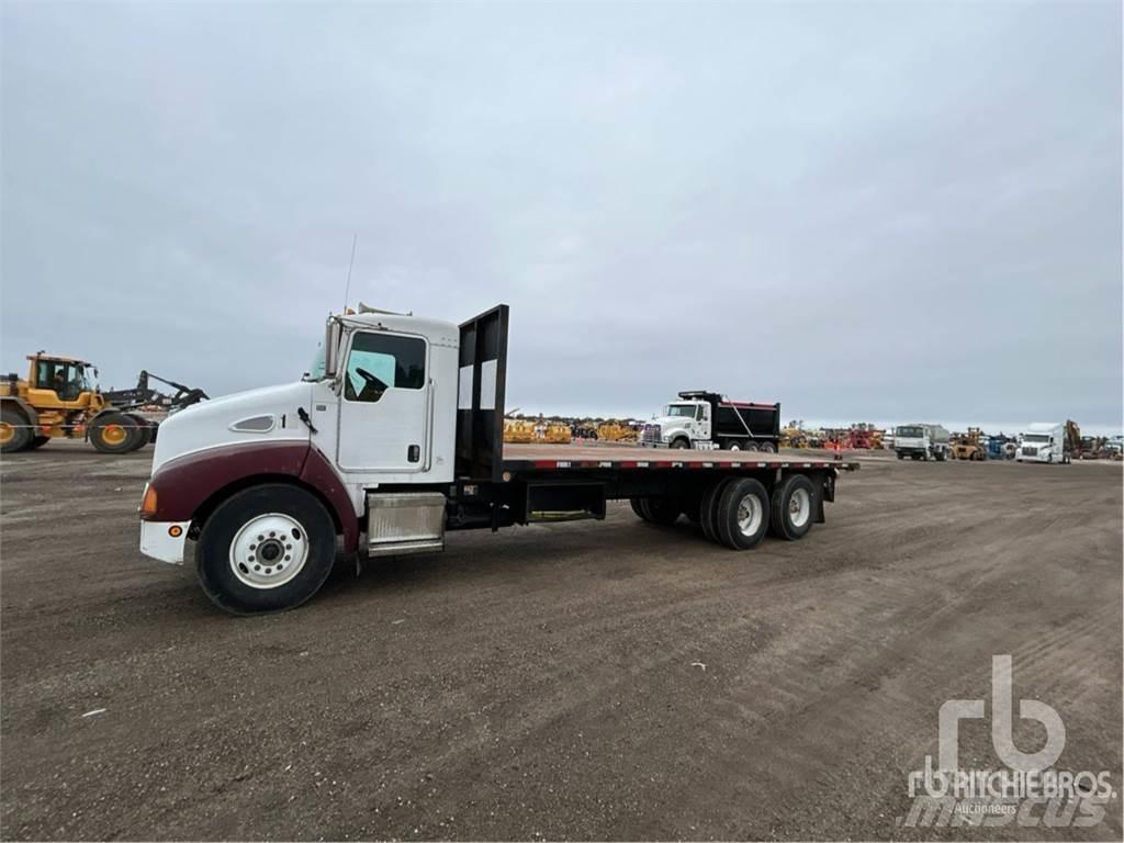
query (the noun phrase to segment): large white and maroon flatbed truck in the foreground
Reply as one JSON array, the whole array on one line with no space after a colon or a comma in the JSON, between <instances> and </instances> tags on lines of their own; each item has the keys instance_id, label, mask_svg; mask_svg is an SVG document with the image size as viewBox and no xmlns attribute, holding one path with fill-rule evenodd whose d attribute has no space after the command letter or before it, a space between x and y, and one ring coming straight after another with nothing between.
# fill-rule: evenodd
<instances>
[{"instance_id":1,"label":"large white and maroon flatbed truck in the foreground","mask_svg":"<svg viewBox=\"0 0 1124 843\"><path fill-rule=\"evenodd\" d=\"M337 542L368 556L441 551L459 529L681 516L731 550L824 522L858 463L635 445L505 445L509 312L457 326L365 311L332 316L302 380L170 417L139 516L140 550L193 563L235 614L288 609L319 590ZM542 534L551 541L549 533Z\"/></svg>"}]
</instances>

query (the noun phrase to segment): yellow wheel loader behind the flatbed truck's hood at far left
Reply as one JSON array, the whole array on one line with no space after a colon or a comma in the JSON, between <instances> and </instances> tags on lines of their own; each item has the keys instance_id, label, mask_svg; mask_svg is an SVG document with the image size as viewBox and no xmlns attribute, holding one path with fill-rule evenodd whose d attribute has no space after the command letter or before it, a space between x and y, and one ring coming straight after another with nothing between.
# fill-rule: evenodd
<instances>
[{"instance_id":1,"label":"yellow wheel loader behind the flatbed truck's hood at far left","mask_svg":"<svg viewBox=\"0 0 1124 843\"><path fill-rule=\"evenodd\" d=\"M92 363L42 351L27 359L26 380L9 374L0 381L0 453L88 438L101 453L127 454L152 441L152 424L98 391Z\"/></svg>"}]
</instances>

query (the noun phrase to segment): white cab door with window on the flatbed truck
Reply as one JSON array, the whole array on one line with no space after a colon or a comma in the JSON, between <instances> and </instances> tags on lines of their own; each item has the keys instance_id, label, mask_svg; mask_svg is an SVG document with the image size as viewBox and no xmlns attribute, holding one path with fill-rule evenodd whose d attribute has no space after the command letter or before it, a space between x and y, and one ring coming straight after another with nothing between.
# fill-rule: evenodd
<instances>
[{"instance_id":1,"label":"white cab door with window on the flatbed truck","mask_svg":"<svg viewBox=\"0 0 1124 843\"><path fill-rule=\"evenodd\" d=\"M356 330L339 390L336 459L344 471L429 468L433 388L425 337Z\"/></svg>"}]
</instances>

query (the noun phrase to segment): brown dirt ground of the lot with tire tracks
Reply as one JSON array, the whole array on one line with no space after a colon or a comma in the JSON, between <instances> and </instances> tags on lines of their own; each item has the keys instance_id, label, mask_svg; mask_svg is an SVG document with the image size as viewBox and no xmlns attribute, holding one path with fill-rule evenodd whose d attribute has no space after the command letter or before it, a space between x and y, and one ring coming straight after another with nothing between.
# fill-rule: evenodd
<instances>
[{"instance_id":1,"label":"brown dirt ground of the lot with tire tracks","mask_svg":"<svg viewBox=\"0 0 1124 843\"><path fill-rule=\"evenodd\" d=\"M876 456L801 542L614 505L234 618L137 550L149 459L0 465L4 839L1121 839L1118 464ZM1058 769L1113 773L1104 821L903 825L1008 653ZM960 752L997 764L985 722Z\"/></svg>"}]
</instances>

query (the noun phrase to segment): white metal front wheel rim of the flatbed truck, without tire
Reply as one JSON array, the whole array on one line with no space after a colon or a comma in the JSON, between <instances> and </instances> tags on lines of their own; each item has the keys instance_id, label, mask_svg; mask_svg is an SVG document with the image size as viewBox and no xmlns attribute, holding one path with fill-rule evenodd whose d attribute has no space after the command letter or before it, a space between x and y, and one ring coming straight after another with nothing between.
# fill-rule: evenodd
<instances>
[{"instance_id":1,"label":"white metal front wheel rim of the flatbed truck, without tire","mask_svg":"<svg viewBox=\"0 0 1124 843\"><path fill-rule=\"evenodd\" d=\"M280 513L246 522L230 542L230 571L251 588L278 588L300 573L308 561L308 533L296 518Z\"/></svg>"}]
</instances>

